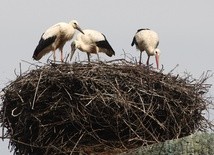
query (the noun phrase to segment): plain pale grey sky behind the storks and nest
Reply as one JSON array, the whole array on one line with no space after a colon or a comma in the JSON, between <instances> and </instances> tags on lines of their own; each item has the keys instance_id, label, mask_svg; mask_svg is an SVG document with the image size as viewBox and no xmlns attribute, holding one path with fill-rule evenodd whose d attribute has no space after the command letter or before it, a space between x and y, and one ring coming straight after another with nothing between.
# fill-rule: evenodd
<instances>
[{"instance_id":1,"label":"plain pale grey sky behind the storks and nest","mask_svg":"<svg viewBox=\"0 0 214 155\"><path fill-rule=\"evenodd\" d=\"M124 58L124 51L139 59L139 52L131 47L131 41L138 29L150 28L159 35L160 64L165 73L178 64L173 71L175 75L182 76L187 72L199 78L206 71L213 74L213 6L213 0L2 0L0 89L16 79L14 72L19 73L20 64L25 72L29 63L36 63L32 59L33 51L48 27L73 19L82 29L105 34L116 55L108 58L100 54L101 60ZM70 43L65 45L64 53L70 52ZM74 56L78 55L81 60L86 60L85 53L76 52ZM44 56L41 62L46 63L49 56L51 54ZM146 58L144 53L144 63ZM96 55L92 59L95 60ZM153 57L150 60L155 62ZM214 77L207 83L214 84ZM214 96L213 87L207 95ZM214 119L213 111L210 111L210 119ZM0 140L0 154L12 154L8 150L8 140Z\"/></svg>"}]
</instances>

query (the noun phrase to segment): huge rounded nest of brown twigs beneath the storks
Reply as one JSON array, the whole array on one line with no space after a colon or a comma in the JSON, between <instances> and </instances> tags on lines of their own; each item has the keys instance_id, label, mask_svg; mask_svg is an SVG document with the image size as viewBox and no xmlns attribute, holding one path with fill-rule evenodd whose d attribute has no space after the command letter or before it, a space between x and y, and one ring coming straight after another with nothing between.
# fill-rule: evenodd
<instances>
[{"instance_id":1,"label":"huge rounded nest of brown twigs beneath the storks","mask_svg":"<svg viewBox=\"0 0 214 155\"><path fill-rule=\"evenodd\" d=\"M49 64L3 89L0 122L15 154L101 154L205 131L207 76L124 61Z\"/></svg>"}]
</instances>

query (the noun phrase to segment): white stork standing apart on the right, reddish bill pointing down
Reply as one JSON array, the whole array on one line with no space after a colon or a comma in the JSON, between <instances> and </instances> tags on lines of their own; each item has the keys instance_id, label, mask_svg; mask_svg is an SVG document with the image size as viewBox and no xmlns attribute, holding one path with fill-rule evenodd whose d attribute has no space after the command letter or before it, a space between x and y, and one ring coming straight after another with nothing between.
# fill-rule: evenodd
<instances>
[{"instance_id":1,"label":"white stork standing apart on the right, reddish bill pointing down","mask_svg":"<svg viewBox=\"0 0 214 155\"><path fill-rule=\"evenodd\" d=\"M140 60L139 64L141 64L142 52L146 51L148 55L148 59L146 64L149 65L150 56L155 55L157 69L159 69L159 55L160 50L157 48L159 44L158 34L150 29L139 29L135 34L133 41L131 43L132 46L136 45L136 48L140 50Z\"/></svg>"}]
</instances>

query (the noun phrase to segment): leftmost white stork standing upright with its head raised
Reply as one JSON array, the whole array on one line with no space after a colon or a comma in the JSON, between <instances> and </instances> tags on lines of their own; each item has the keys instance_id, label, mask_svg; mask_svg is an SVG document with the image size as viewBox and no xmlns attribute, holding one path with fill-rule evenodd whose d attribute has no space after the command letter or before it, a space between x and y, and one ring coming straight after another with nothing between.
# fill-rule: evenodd
<instances>
[{"instance_id":1,"label":"leftmost white stork standing upright with its head raised","mask_svg":"<svg viewBox=\"0 0 214 155\"><path fill-rule=\"evenodd\" d=\"M45 54L53 51L53 59L55 62L55 51L59 48L61 52L61 62L63 62L63 46L73 38L75 29L82 32L76 20L72 20L69 23L60 22L48 28L42 34L39 44L33 53L33 58L40 60Z\"/></svg>"}]
</instances>

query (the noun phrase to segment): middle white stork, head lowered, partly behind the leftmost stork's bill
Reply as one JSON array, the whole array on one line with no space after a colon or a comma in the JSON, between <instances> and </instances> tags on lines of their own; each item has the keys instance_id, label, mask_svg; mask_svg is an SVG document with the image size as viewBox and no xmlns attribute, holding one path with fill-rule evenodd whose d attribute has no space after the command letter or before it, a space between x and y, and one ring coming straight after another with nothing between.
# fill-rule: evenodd
<instances>
[{"instance_id":1,"label":"middle white stork, head lowered, partly behind the leftmost stork's bill","mask_svg":"<svg viewBox=\"0 0 214 155\"><path fill-rule=\"evenodd\" d=\"M98 52L103 52L109 57L115 55L115 52L109 42L106 40L104 34L96 30L83 30L84 34L79 33L76 40L71 43L71 57L72 59L75 50L78 48L82 52L86 52L88 56L88 61L90 62L90 54L97 54Z\"/></svg>"}]
</instances>

